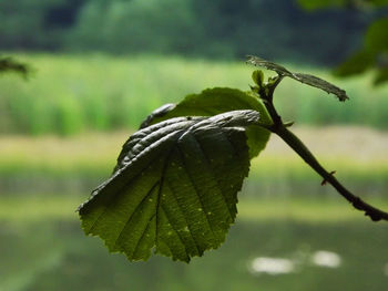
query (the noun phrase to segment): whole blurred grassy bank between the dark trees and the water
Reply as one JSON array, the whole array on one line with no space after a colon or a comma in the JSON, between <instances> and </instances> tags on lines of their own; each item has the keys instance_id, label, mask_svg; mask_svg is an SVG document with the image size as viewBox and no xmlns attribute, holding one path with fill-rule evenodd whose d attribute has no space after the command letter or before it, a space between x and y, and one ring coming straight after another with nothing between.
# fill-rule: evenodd
<instances>
[{"instance_id":1,"label":"whole blurred grassy bank between the dark trees and the water","mask_svg":"<svg viewBox=\"0 0 388 291\"><path fill-rule=\"evenodd\" d=\"M109 177L122 144L152 110L204 87L246 90L253 71L243 62L180 58L18 56L37 67L37 72L29 82L12 75L0 79L0 133L3 134L0 135L0 220L76 217L73 210L92 188ZM333 81L316 69L298 71ZM351 97L345 104L286 80L276 102L285 119L295 118L297 124L357 121L387 127L388 89L371 91L369 79L365 75L346 82L335 80ZM385 132L300 126L295 131L329 170L337 170L336 176L351 190L367 200L387 205ZM329 220L360 216L346 201L334 202L340 199L337 194L329 186L320 187L320 178L285 148L272 138L262 156L253 160L249 178L239 195L241 217ZM300 194L304 198L298 200ZM324 202L321 195L328 198ZM304 200L309 196L319 197L319 202ZM284 200L274 208L269 197Z\"/></svg>"}]
</instances>

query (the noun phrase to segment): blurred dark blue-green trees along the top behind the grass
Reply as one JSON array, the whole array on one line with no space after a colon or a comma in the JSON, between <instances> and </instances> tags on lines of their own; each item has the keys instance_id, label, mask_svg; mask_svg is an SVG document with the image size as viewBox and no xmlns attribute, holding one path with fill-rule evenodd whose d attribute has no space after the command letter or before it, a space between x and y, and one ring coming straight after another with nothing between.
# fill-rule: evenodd
<instances>
[{"instance_id":1,"label":"blurred dark blue-green trees along the top behind the grass","mask_svg":"<svg viewBox=\"0 0 388 291\"><path fill-rule=\"evenodd\" d=\"M289 0L12 0L0 1L0 19L1 50L212 59L259 50L266 58L327 65L351 52L371 15L309 15Z\"/></svg>"}]
</instances>

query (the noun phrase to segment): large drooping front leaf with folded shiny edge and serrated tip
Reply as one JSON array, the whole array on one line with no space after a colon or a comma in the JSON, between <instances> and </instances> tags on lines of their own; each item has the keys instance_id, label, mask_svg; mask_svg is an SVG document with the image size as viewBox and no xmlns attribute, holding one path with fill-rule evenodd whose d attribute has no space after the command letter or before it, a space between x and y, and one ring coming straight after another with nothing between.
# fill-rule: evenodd
<instances>
[{"instance_id":1,"label":"large drooping front leaf with folded shiny edge and serrated tip","mask_svg":"<svg viewBox=\"0 0 388 291\"><path fill-rule=\"evenodd\" d=\"M249 170L245 127L258 115L176 117L133 134L113 176L79 208L84 232L130 260L154 248L188 262L218 248Z\"/></svg>"}]
</instances>

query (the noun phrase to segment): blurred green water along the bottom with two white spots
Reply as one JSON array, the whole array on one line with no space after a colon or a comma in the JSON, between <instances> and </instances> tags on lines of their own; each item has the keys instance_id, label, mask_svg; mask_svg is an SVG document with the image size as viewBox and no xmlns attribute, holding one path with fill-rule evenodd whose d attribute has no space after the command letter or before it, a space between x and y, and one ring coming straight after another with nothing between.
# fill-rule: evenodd
<instances>
[{"instance_id":1,"label":"blurred green water along the bottom with two white spots","mask_svg":"<svg viewBox=\"0 0 388 291\"><path fill-rule=\"evenodd\" d=\"M131 263L75 220L0 222L0 290L380 291L387 245L387 227L369 221L238 221L222 248L190 264L159 256Z\"/></svg>"}]
</instances>

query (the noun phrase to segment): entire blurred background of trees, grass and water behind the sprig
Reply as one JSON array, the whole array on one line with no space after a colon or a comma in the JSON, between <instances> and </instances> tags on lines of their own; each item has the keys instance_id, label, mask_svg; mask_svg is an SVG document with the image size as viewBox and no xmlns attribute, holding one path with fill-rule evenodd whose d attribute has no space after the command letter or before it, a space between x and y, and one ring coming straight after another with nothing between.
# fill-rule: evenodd
<instances>
[{"instance_id":1,"label":"entire blurred background of trees, grass and water behind the sprig","mask_svg":"<svg viewBox=\"0 0 388 291\"><path fill-rule=\"evenodd\" d=\"M248 90L246 54L348 92L343 104L285 80L276 105L327 169L388 210L387 12L384 0L0 1L1 55L30 67L0 75L0 290L387 290L387 224L275 136L226 242L190 264L110 254L75 212L151 111Z\"/></svg>"}]
</instances>

